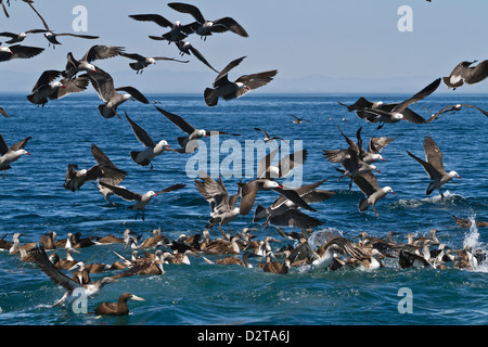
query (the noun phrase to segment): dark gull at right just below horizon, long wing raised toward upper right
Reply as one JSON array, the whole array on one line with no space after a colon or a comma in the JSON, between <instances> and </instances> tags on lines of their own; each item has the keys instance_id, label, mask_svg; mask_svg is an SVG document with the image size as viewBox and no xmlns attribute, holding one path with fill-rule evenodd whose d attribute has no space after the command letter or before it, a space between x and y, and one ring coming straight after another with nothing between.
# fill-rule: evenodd
<instances>
[{"instance_id":1,"label":"dark gull at right just below horizon, long wing raised toward upper right","mask_svg":"<svg viewBox=\"0 0 488 347\"><path fill-rule=\"evenodd\" d=\"M411 97L410 99L407 99L402 101L399 104L395 104L393 108L390 110L384 110L384 107L381 108L361 108L358 111L358 115L360 118L365 118L369 123L378 123L377 129L381 129L385 123L398 123L401 119L408 120L410 123L414 124L422 124L425 121L425 119L421 116L419 116L415 113L412 113L411 111L407 111L408 107L424 98L431 95L440 85L440 78L436 79L432 83L429 83L427 87L422 89L420 92Z\"/></svg>"}]
</instances>

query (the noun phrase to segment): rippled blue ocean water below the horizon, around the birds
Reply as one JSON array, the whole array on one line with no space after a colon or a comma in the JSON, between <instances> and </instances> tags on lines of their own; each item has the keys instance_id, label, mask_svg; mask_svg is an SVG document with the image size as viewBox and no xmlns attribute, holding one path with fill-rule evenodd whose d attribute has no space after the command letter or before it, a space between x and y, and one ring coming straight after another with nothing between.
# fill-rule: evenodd
<instances>
[{"instance_id":1,"label":"rippled blue ocean water below the horizon, around the birds","mask_svg":"<svg viewBox=\"0 0 488 347\"><path fill-rule=\"evenodd\" d=\"M427 125L408 121L387 124L377 130L356 114L337 104L354 103L360 95L269 95L251 93L240 100L221 102L207 107L203 95L151 94L159 106L185 118L195 127L239 132L241 137L221 137L224 140L259 140L261 133L285 140L301 140L309 151L303 167L303 182L312 183L328 178L321 189L336 195L314 204L317 213L307 214L320 219L320 231L337 230L352 239L361 231L369 235L385 236L398 232L397 242L407 242L407 234L426 235L438 229L440 242L452 248L471 244L486 248L486 228L457 228L452 215L461 218L488 220L488 119L473 108L457 114L444 114ZM368 95L371 100L400 102L410 95ZM208 204L194 188L185 172L192 155L165 153L153 160L154 170L136 165L129 152L142 149L126 119L104 119L97 110L97 95L78 94L38 108L26 102L23 94L1 94L0 105L10 117L0 118L0 133L9 145L31 137L26 150L31 155L14 163L13 169L0 181L0 234L25 234L25 242L39 241L42 233L53 230L59 239L68 232L84 236L121 236L129 228L143 237L151 236L155 228L174 240L180 234L202 232L208 220ZM488 110L484 95L465 95L455 92L433 94L422 102L437 111L446 105L467 103ZM412 108L424 117L420 105ZM160 115L154 105L127 102L119 108L158 141L166 139L177 146L176 138L182 132ZM310 119L301 125L292 124L288 114ZM370 208L358 210L363 196L356 185L348 190L348 180L337 182L338 172L322 156L322 150L346 147L336 125L351 139L363 127L364 143L373 136L396 138L384 151L386 162L377 164L376 175L381 187L390 185L396 195L388 194L377 205L380 217ZM425 195L428 177L406 151L424 157L423 139L431 136L444 152L447 170L457 170L462 177L445 187L446 198L436 191ZM210 143L210 139L204 142ZM91 183L72 193L63 182L68 164L89 168L95 164L90 144L95 143L121 169L129 172L123 185L144 193L160 190L174 183L185 183L178 192L155 197L146 208L145 221L134 220L130 205L113 196L116 205L107 205ZM228 154L222 150L219 160ZM232 194L239 178L226 178ZM273 192L262 193L258 202L271 204ZM271 235L280 243L274 228L264 230L253 223L252 214L240 216L231 223L232 232L241 228L258 228L257 240ZM292 230L291 228L285 228ZM298 231L298 230L295 230ZM213 239L220 236L218 228L210 231ZM64 257L64 250L56 250ZM112 264L118 260L117 252L129 257L130 249L123 245L92 246L74 254L85 262ZM210 259L218 258L209 256ZM253 259L254 265L259 260ZM339 270L306 271L293 268L286 275L265 273L260 268L208 265L201 255L191 257L191 265L167 265L164 275L130 277L106 285L102 293L88 300L88 311L102 301L115 301L124 292L143 297L145 301L129 301L130 314L119 318L98 318L94 314L75 313L69 306L51 307L63 294L35 265L20 261L18 256L0 252L0 325L329 325L329 324L487 324L488 267L480 264L476 270L459 269L401 269L391 259L375 271ZM107 273L92 274L99 279ZM111 273L108 273L111 274ZM412 312L400 313L401 288L412 293ZM400 292L401 293L401 292Z\"/></svg>"}]
</instances>

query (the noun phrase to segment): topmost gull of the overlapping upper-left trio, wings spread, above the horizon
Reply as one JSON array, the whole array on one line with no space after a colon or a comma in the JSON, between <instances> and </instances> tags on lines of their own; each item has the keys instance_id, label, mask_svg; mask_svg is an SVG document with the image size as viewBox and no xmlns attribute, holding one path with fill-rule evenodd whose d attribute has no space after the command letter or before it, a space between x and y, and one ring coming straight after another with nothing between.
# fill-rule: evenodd
<instances>
[{"instance_id":1,"label":"topmost gull of the overlapping upper-left trio, wings spread, above the horizon","mask_svg":"<svg viewBox=\"0 0 488 347\"><path fill-rule=\"evenodd\" d=\"M72 52L66 55L66 67L63 72L63 76L67 78L73 78L79 72L94 73L97 74L97 67L91 64L97 60L105 60L121 55L124 53L124 47L118 46L92 46L87 53L80 59L76 60Z\"/></svg>"}]
</instances>

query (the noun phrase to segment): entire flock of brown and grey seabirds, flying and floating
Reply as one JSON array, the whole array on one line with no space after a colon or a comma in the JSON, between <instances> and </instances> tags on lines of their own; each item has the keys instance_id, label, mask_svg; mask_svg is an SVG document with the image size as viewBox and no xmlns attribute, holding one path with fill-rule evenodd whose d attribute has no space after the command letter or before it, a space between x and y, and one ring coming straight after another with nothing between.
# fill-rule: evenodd
<instances>
[{"instance_id":1,"label":"entire flock of brown and grey seabirds, flying and floating","mask_svg":"<svg viewBox=\"0 0 488 347\"><path fill-rule=\"evenodd\" d=\"M22 0L27 3L33 11L39 16L43 25L43 29L31 29L25 33L15 34L10 31L0 33L1 37L8 37L5 42L11 46L0 46L0 62L9 62L14 59L33 59L40 54L44 49L37 47L28 47L18 44L26 39L27 34L42 33L48 39L49 44L55 47L62 44L57 39L63 36L72 36L81 39L97 39L97 36L76 35L76 34L57 34L51 30L34 8L33 0ZM7 5L10 1L0 0L4 14L9 17ZM245 95L247 92L266 86L277 75L277 70L244 75L235 79L229 80L229 72L237 66L244 59L240 57L226 66L222 70L216 70L208 61L188 41L184 39L194 34L206 39L208 36L217 33L231 31L241 37L248 37L245 29L233 18L223 17L217 21L206 20L201 11L188 3L171 2L168 7L180 13L190 14L195 22L188 25L181 25L180 22L172 23L159 14L134 14L129 17L140 22L153 22L160 27L169 28L168 33L162 36L151 36L151 39L167 41L169 44L174 42L180 50L181 55L193 55L215 70L218 75L214 81L213 88L205 89L204 99L208 106L216 106L219 99L230 101ZM138 74L154 64L158 60L177 61L169 57L146 57L137 53L126 53L123 47L112 46L93 46L79 60L72 53L67 54L67 63L64 69L46 70L39 77L34 86L33 91L27 99L29 102L43 106L49 100L55 101L70 93L78 93L86 90L90 85L94 88L102 104L99 106L100 114L105 118L114 116L120 117L117 107L129 99L136 99L142 103L150 103L142 92L133 87L114 87L112 76L92 63L97 60L105 60L114 56L123 56L130 59L129 65ZM185 63L188 61L177 61ZM414 124L427 124L437 119L441 114L454 113L463 107L474 107L485 116L488 112L470 104L449 105L437 113L429 113L427 119L409 108L412 104L423 100L432 94L441 83L449 88L460 88L464 83L473 85L483 81L488 76L488 61L484 61L475 66L476 62L461 62L451 74L447 77L438 78L423 90L414 94L412 98L400 103L385 104L383 102L370 102L364 98L360 98L351 105L342 104L348 112L356 112L357 115L365 119L368 123L377 124L377 128L382 128L385 124L395 124L402 119ZM61 78L61 79L59 79ZM59 80L56 80L59 79ZM168 142L162 140L156 143L151 136L137 125L128 115L125 114L131 130L137 139L144 145L141 151L132 151L130 153L134 163L141 166L151 166L152 160L165 151L178 152L181 154L192 153L195 151L195 141L208 136L230 134L239 136L239 133L228 133L223 131L209 131L198 129L191 126L182 117L171 114L158 106L155 106L169 121L185 132L184 137L178 138L180 147L171 149ZM0 107L0 113L8 117L8 111ZM295 115L294 124L308 121ZM121 118L121 117L120 117ZM280 137L270 137L264 129L255 128L265 134L265 142L282 140ZM342 180L349 178L349 189L352 182L364 193L364 198L360 200L359 210L365 211L370 206L378 216L376 204L387 193L394 191L389 187L381 188L372 171L377 170L374 165L377 160L384 160L381 155L382 150L395 139L386 137L374 137L368 142L368 147L363 147L361 138L361 128L356 133L356 141L347 137L337 126L338 131L345 139L343 149L324 150L324 158L331 163L341 164L342 168L336 168ZM0 134L0 171L11 169L11 165L20 159L23 155L29 154L25 147L30 137L18 141L9 146ZM346 145L347 144L347 145ZM304 165L307 159L307 150L301 150L284 156L278 163L272 165L274 157L278 155L280 147L261 158L256 179L248 182L237 183L235 194L230 194L221 178L214 179L202 172L198 179L195 179L195 188L201 195L208 202L210 206L210 219L203 232L194 235L181 235L174 241L168 240L162 234L159 229L153 231L153 236L142 240L142 235L129 229L124 231L120 237L107 235L103 237L89 236L82 237L80 233L68 233L66 239L56 240L56 233L53 231L43 234L39 242L21 244L21 233L14 233L12 241L5 240L5 235L0 239L0 249L9 252L12 255L18 255L22 261L36 264L56 285L66 290L64 296L54 304L54 306L63 305L73 300L75 290L85 291L86 295L93 297L100 293L102 287L108 283L118 281L121 278L131 275L158 275L164 274L164 265L166 264L183 264L189 265L189 255L202 255L205 261L216 265L236 265L246 268L260 267L266 272L285 274L292 267L309 267L313 269L337 270L341 268L363 268L377 269L384 266L387 258L396 259L401 268L459 268L475 269L477 264L486 260L486 254L481 249L473 249L464 247L462 249L453 249L441 243L437 236L437 230L433 229L428 236L420 236L414 239L412 234L408 235L404 243L394 240L395 233L389 232L386 239L372 237L367 232L361 232L354 239L346 239L343 235L331 234L328 241L318 249L312 249L308 243L308 236L313 232L313 228L322 224L320 220L308 216L303 210L316 209L310 204L316 204L331 198L334 192L321 190L320 185L325 180L303 185L297 189L287 189L283 187L277 179L286 177L293 169ZM455 171L446 171L442 164L442 152L437 146L434 139L426 137L424 140L425 159L407 152L414 160L416 160L426 171L429 183L426 194L429 195L434 191L439 191L441 198L442 185L451 181L453 178L460 178ZM97 185L99 192L103 194L107 204L114 204L110 201L112 195L117 195L126 201L133 202L128 207L136 210L136 219L142 214L144 220L144 210L146 205L154 196L163 193L178 191L185 184L177 183L162 191L150 191L144 194L134 193L119 185L127 175L127 171L119 169L95 144L91 146L91 153L97 160L97 165L89 169L79 169L76 164L69 164L66 170L64 188L76 192L86 182L92 182ZM253 222L262 221L262 226L273 226L280 237L285 241L293 241L295 246L291 244L275 249L271 247L272 242L279 240L266 236L259 240L252 234L253 230L245 228L235 235L231 235L231 230L224 232L222 227L228 226L239 216L248 215L260 191L273 191L277 193L274 203L269 207L257 205ZM239 203L239 204L237 204ZM459 227L470 227L473 222L477 227L488 227L487 222L461 219L453 216ZM211 228L219 226L222 236L211 239L209 231ZM300 232L286 232L280 227L292 227L299 229ZM358 241L356 241L358 239ZM120 244L125 248L132 249L131 258L126 258L118 253L117 261L113 264L84 264L76 260L73 253L79 253L79 248L103 245L103 244ZM65 258L61 258L56 252L66 253ZM51 253L48 255L48 253ZM221 255L217 260L210 260L205 255ZM253 264L252 258L258 258L259 262ZM93 281L90 278L92 273L110 273L100 280ZM130 293L120 295L117 303L102 303L94 309L95 314L128 314L129 309L127 300L143 300L141 297Z\"/></svg>"}]
</instances>

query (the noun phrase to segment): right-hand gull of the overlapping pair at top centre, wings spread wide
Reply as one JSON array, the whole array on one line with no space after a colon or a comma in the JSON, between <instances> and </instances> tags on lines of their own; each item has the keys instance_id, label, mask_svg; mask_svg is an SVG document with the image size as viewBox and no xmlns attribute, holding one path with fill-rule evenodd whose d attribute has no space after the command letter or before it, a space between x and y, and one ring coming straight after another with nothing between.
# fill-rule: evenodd
<instances>
[{"instance_id":1,"label":"right-hand gull of the overlapping pair at top centre, wings spread wide","mask_svg":"<svg viewBox=\"0 0 488 347\"><path fill-rule=\"evenodd\" d=\"M195 33L204 40L206 40L207 36L210 36L213 33L232 31L242 37L249 36L246 30L232 17L206 21L198 8L192 4L170 2L168 3L168 7L181 13L189 13L195 18L196 22L185 25L183 28L184 33L188 35Z\"/></svg>"}]
</instances>

